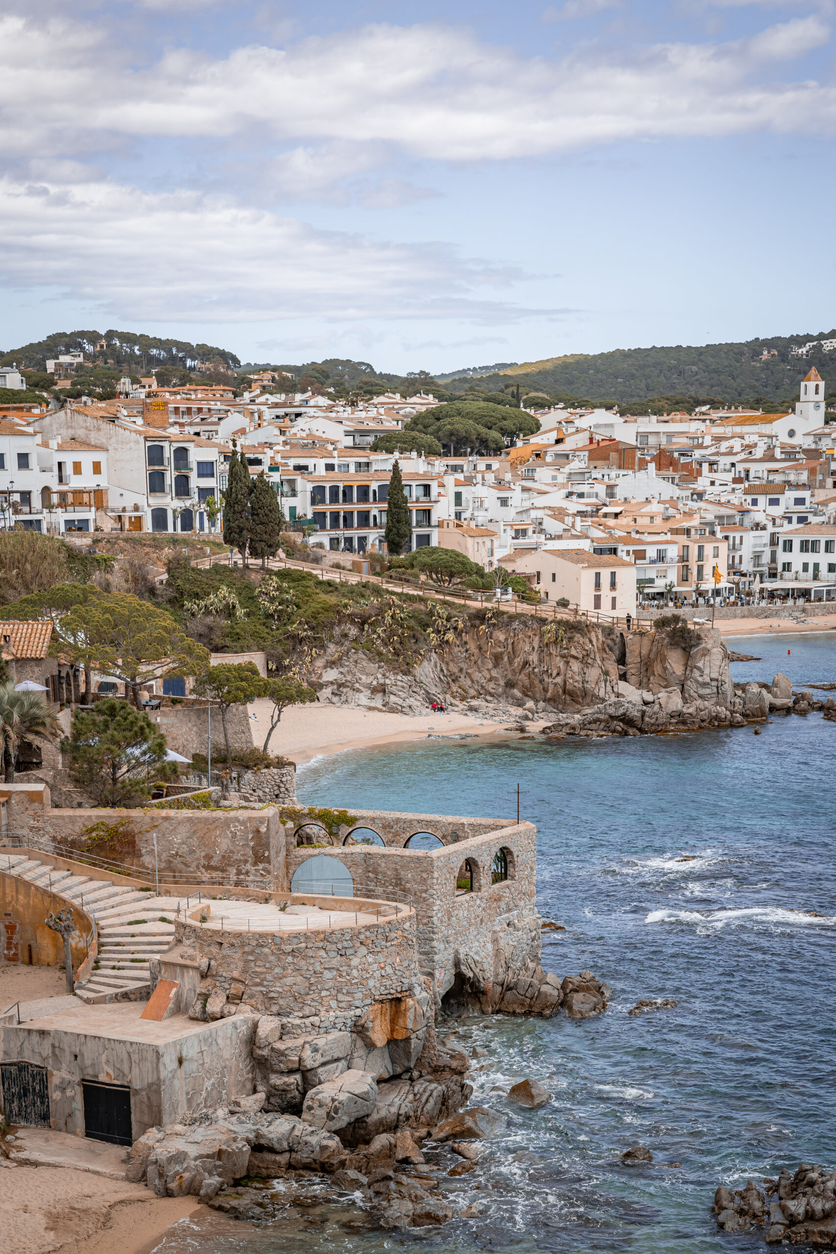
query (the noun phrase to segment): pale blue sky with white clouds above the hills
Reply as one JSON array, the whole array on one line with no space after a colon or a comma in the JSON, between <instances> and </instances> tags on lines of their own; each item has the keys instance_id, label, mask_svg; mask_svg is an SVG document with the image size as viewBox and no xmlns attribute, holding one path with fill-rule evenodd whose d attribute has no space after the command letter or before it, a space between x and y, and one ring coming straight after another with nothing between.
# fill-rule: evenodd
<instances>
[{"instance_id":1,"label":"pale blue sky with white clouds above the hills","mask_svg":"<svg viewBox=\"0 0 836 1254\"><path fill-rule=\"evenodd\" d=\"M836 324L833 0L5 0L0 349L442 372Z\"/></svg>"}]
</instances>

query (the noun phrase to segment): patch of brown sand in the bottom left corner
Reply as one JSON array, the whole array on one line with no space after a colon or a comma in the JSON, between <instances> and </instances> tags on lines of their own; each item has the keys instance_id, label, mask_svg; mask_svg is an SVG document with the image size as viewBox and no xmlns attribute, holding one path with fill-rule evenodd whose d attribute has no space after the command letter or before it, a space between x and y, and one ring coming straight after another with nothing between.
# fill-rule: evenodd
<instances>
[{"instance_id":1,"label":"patch of brown sand in the bottom left corner","mask_svg":"<svg viewBox=\"0 0 836 1254\"><path fill-rule=\"evenodd\" d=\"M0 1244L10 1254L145 1254L197 1204L71 1167L0 1167Z\"/></svg>"}]
</instances>

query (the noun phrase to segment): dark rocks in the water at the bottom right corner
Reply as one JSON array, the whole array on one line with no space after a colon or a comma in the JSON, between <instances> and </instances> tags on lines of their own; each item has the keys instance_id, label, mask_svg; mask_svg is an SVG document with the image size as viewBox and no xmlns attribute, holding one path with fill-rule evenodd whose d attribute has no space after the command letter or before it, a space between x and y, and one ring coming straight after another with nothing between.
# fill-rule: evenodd
<instances>
[{"instance_id":1,"label":"dark rocks in the water at the bottom right corner","mask_svg":"<svg viewBox=\"0 0 836 1254\"><path fill-rule=\"evenodd\" d=\"M836 1171L802 1162L795 1175L785 1167L761 1190L752 1180L714 1194L717 1224L727 1233L765 1229L767 1244L830 1246L836 1240ZM775 1199L770 1201L770 1198Z\"/></svg>"}]
</instances>

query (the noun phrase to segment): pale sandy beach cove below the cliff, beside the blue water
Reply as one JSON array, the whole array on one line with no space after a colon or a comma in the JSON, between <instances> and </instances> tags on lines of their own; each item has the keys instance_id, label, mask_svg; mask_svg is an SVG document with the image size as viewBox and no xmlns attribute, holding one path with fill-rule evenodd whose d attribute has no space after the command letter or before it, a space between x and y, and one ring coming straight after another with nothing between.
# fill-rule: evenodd
<instances>
[{"instance_id":1,"label":"pale sandy beach cove below the cliff, beside the blue water","mask_svg":"<svg viewBox=\"0 0 836 1254\"><path fill-rule=\"evenodd\" d=\"M269 703L256 701L249 706L253 740L264 742L269 727ZM269 752L281 754L295 762L308 762L320 754L338 754L343 749L365 749L370 745L394 745L407 740L424 740L427 735L450 736L468 731L480 736L501 731L508 724L486 722L464 714L404 715L384 710L357 710L353 706L315 705L292 706L271 736ZM540 724L531 724L538 727Z\"/></svg>"}]
</instances>

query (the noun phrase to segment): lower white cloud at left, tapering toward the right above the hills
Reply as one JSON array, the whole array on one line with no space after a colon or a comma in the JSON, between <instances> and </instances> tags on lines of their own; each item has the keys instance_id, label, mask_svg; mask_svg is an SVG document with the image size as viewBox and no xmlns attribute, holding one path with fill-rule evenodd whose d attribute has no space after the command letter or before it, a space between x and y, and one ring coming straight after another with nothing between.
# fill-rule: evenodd
<instances>
[{"instance_id":1,"label":"lower white cloud at left, tapering toward the right above the hills","mask_svg":"<svg viewBox=\"0 0 836 1254\"><path fill-rule=\"evenodd\" d=\"M58 288L123 319L340 322L554 316L500 298L526 276L444 243L370 242L192 192L0 181L8 286Z\"/></svg>"}]
</instances>

